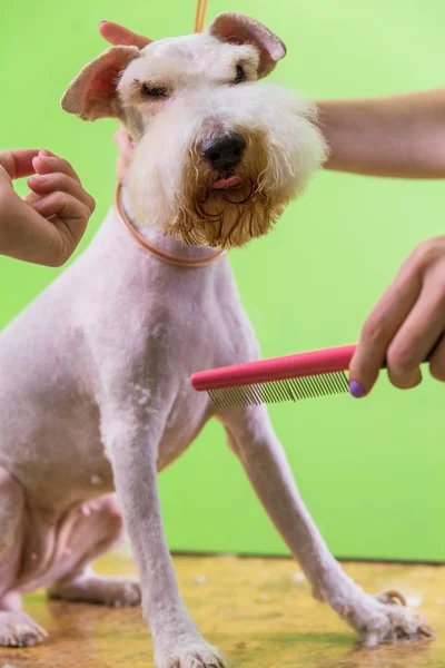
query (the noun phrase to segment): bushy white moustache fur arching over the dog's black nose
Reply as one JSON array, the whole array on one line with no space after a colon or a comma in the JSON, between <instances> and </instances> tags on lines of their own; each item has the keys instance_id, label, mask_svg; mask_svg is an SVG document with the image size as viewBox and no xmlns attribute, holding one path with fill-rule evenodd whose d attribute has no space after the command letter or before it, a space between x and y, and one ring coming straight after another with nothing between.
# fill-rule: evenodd
<instances>
[{"instance_id":1,"label":"bushy white moustache fur arching over the dog's black nose","mask_svg":"<svg viewBox=\"0 0 445 668\"><path fill-rule=\"evenodd\" d=\"M128 180L138 220L162 229L175 226L186 158L210 122L267 136L268 166L261 178L288 202L325 157L314 119L310 102L269 82L245 84L229 94L226 87L206 87L178 95L151 119L136 147Z\"/></svg>"}]
</instances>

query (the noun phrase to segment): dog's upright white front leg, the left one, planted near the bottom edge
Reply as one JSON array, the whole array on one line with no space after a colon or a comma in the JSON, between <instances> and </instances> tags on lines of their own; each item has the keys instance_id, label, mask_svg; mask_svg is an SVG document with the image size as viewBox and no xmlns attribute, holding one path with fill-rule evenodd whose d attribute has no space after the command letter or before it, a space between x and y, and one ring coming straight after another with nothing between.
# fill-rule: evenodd
<instances>
[{"instance_id":1,"label":"dog's upright white front leg, the left one, planted near the bottom edge","mask_svg":"<svg viewBox=\"0 0 445 668\"><path fill-rule=\"evenodd\" d=\"M144 616L159 668L220 668L217 651L199 635L179 596L162 528L157 488L157 452L165 420L107 411L102 434L111 460L123 521L139 569Z\"/></svg>"}]
</instances>

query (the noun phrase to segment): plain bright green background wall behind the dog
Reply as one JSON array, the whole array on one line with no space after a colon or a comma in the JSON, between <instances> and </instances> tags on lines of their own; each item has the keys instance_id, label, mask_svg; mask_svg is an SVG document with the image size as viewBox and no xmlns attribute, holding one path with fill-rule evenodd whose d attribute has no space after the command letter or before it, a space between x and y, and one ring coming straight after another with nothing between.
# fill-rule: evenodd
<instances>
[{"instance_id":1,"label":"plain bright green background wall behind the dog","mask_svg":"<svg viewBox=\"0 0 445 668\"><path fill-rule=\"evenodd\" d=\"M315 99L444 85L443 0L210 0L208 18L226 9L280 35L288 57L274 78ZM41 146L72 161L98 203L85 247L111 202L116 124L81 124L59 98L105 47L99 20L152 38L181 35L191 31L195 2L20 0L0 12L0 147ZM276 232L231 253L264 354L355 341L404 257L443 232L444 196L441 181L319 174ZM0 325L56 275L1 259ZM382 379L362 402L274 407L300 491L337 557L445 560L443 399L429 377L409 393ZM172 549L287 553L217 424L160 487Z\"/></svg>"}]
</instances>

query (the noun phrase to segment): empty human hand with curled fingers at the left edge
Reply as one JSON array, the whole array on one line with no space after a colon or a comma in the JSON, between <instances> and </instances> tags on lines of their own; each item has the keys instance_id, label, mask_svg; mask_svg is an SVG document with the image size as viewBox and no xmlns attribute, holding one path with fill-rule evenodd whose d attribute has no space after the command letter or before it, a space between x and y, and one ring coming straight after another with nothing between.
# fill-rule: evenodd
<instances>
[{"instance_id":1,"label":"empty human hand with curled fingers at the left edge","mask_svg":"<svg viewBox=\"0 0 445 668\"><path fill-rule=\"evenodd\" d=\"M30 176L21 199L12 181ZM95 210L71 165L48 150L0 151L0 253L61 266L79 244Z\"/></svg>"}]
</instances>

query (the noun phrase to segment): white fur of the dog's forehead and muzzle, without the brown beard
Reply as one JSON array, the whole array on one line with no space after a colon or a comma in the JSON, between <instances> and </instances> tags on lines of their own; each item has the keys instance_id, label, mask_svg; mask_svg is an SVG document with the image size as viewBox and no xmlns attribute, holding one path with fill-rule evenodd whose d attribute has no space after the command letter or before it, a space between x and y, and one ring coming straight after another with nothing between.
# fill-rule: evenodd
<instances>
[{"instance_id":1,"label":"white fur of the dog's forehead and muzzle, without the brown beard","mask_svg":"<svg viewBox=\"0 0 445 668\"><path fill-rule=\"evenodd\" d=\"M241 63L247 82L233 86ZM224 43L208 35L165 39L146 47L119 81L123 112L137 116L137 148L129 195L141 225L175 233L190 153L217 128L254 132L247 163L261 148L267 167L254 174L279 204L297 195L326 157L315 107L278 85L257 82L254 46ZM138 84L166 86L165 101L140 95ZM195 165L200 169L199 163ZM243 240L248 240L243 236Z\"/></svg>"}]
</instances>

